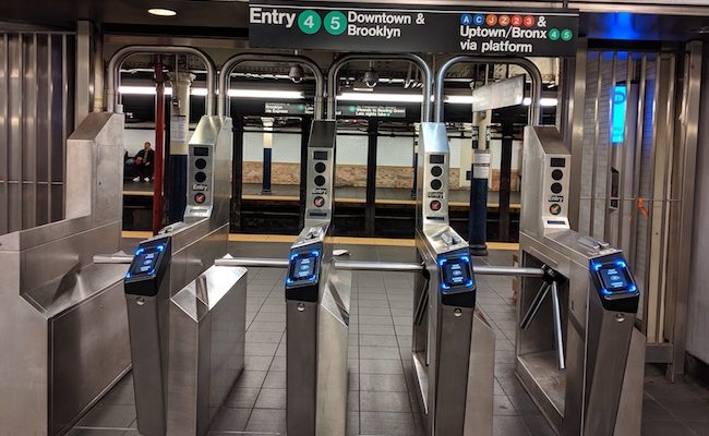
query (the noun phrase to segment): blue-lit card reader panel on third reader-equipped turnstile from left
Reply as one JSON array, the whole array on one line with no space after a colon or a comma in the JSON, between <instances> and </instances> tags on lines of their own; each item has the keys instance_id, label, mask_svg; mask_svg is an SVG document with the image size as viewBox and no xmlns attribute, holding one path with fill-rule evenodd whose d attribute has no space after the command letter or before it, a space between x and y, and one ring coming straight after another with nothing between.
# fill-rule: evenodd
<instances>
[{"instance_id":1,"label":"blue-lit card reader panel on third reader-equipped turnstile from left","mask_svg":"<svg viewBox=\"0 0 709 436\"><path fill-rule=\"evenodd\" d=\"M443 304L472 307L476 302L476 279L470 254L466 251L446 253L437 258L438 288Z\"/></svg>"}]
</instances>

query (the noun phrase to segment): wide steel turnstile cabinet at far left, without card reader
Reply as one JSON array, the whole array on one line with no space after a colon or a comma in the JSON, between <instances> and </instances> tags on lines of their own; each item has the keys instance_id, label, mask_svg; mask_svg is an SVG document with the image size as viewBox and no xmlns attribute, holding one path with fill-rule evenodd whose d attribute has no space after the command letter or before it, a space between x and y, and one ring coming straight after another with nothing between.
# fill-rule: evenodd
<instances>
[{"instance_id":1,"label":"wide steel turnstile cabinet at far left, without card reader","mask_svg":"<svg viewBox=\"0 0 709 436\"><path fill-rule=\"evenodd\" d=\"M103 202L120 205L120 192L101 184L120 185L121 167L109 167L123 154L122 129L122 117L92 114L68 141L107 160L68 164L85 172L70 178L73 218L0 237L0 434L67 431L130 367L124 267L93 265L119 250L120 206Z\"/></svg>"}]
</instances>

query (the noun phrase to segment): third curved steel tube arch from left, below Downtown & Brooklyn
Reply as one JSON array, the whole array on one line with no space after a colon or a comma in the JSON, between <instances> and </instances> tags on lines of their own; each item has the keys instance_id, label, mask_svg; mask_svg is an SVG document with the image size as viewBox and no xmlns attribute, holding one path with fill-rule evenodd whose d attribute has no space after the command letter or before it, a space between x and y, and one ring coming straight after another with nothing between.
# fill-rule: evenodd
<instances>
[{"instance_id":1,"label":"third curved steel tube arch from left, below Downtown & Brooklyn","mask_svg":"<svg viewBox=\"0 0 709 436\"><path fill-rule=\"evenodd\" d=\"M433 70L431 66L418 55L413 53L350 53L343 56L333 63L327 73L327 119L334 120L337 113L337 75L346 63L352 61L371 61L371 60L387 60L387 61L409 61L421 70L423 75L423 101L421 102L421 121L431 121L431 95L433 86Z\"/></svg>"}]
</instances>

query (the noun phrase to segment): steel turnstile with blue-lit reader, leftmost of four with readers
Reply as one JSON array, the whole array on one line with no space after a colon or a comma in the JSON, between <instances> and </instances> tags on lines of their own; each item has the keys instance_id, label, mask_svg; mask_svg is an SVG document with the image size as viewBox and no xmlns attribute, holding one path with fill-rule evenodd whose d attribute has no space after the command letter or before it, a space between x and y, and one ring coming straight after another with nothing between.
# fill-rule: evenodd
<instances>
[{"instance_id":1,"label":"steel turnstile with blue-lit reader, leftmost of four with readers","mask_svg":"<svg viewBox=\"0 0 709 436\"><path fill-rule=\"evenodd\" d=\"M125 276L145 436L206 434L243 370L245 269L213 266L227 253L231 149L231 120L203 117L189 146L184 222L143 242Z\"/></svg>"}]
</instances>

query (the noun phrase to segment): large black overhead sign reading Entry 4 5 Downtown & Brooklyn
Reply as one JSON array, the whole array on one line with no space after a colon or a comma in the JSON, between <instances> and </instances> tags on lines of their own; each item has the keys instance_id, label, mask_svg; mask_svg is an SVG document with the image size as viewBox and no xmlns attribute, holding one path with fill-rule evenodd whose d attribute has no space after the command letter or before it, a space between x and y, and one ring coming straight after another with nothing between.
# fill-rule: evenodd
<instances>
[{"instance_id":1,"label":"large black overhead sign reading Entry 4 5 Downtown & Brooklyn","mask_svg":"<svg viewBox=\"0 0 709 436\"><path fill-rule=\"evenodd\" d=\"M578 11L252 0L251 47L575 56Z\"/></svg>"}]
</instances>

